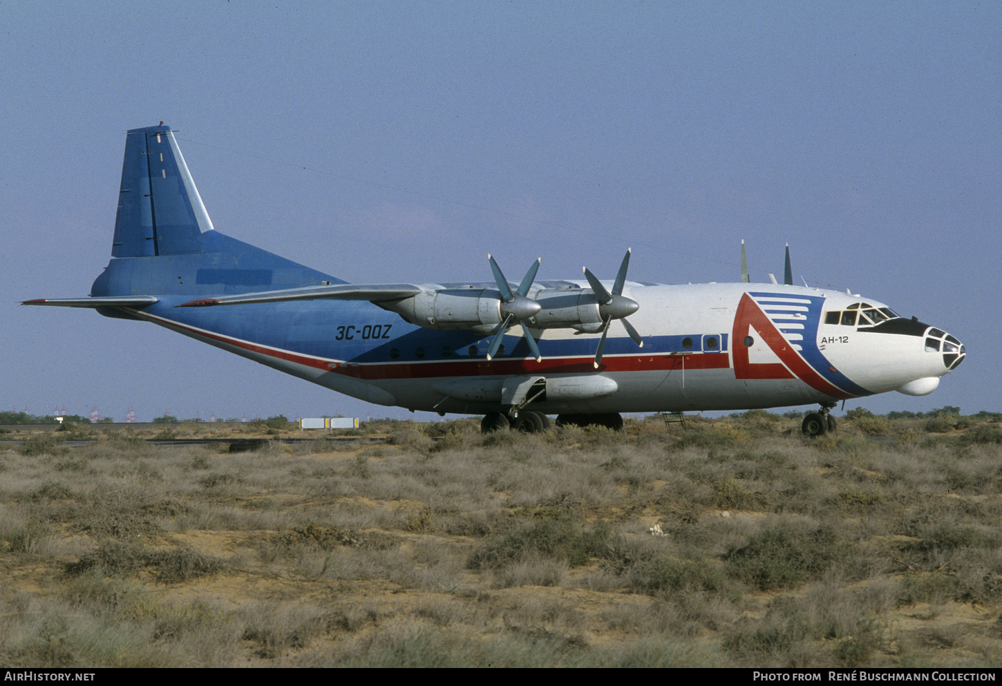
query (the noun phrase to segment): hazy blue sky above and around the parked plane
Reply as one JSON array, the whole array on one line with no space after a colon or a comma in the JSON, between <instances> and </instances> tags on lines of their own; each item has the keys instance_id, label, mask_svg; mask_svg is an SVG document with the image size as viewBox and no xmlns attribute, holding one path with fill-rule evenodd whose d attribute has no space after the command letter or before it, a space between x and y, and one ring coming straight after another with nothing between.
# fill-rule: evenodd
<instances>
[{"instance_id":1,"label":"hazy blue sky above and around the parked plane","mask_svg":"<svg viewBox=\"0 0 1002 686\"><path fill-rule=\"evenodd\" d=\"M0 4L0 407L372 407L149 324L22 299L107 263L125 130L176 136L217 229L352 281L851 288L965 342L925 398L1002 411L1002 4ZM515 274L514 276L512 274ZM425 417L419 415L422 419Z\"/></svg>"}]
</instances>

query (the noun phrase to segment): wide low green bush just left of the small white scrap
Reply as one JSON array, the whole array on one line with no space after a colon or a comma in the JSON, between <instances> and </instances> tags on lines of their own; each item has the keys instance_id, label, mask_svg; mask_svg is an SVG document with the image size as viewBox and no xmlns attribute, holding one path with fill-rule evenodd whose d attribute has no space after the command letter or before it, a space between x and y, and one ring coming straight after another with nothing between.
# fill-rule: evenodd
<instances>
[{"instance_id":1,"label":"wide low green bush just left of the small white scrap","mask_svg":"<svg viewBox=\"0 0 1002 686\"><path fill-rule=\"evenodd\" d=\"M546 519L488 541L470 555L466 566L473 570L498 569L539 557L578 567L604 554L610 537L611 531L604 522L583 530L568 519Z\"/></svg>"}]
</instances>

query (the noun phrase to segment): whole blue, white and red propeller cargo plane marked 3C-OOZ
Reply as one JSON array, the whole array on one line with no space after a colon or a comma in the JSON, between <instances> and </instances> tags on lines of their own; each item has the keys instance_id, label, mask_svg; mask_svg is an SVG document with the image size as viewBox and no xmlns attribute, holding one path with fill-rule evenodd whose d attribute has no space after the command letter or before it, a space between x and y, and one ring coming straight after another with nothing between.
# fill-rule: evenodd
<instances>
[{"instance_id":1,"label":"whole blue, white and red propeller cargo plane marked 3C-OOZ","mask_svg":"<svg viewBox=\"0 0 1002 686\"><path fill-rule=\"evenodd\" d=\"M536 280L347 283L219 233L169 126L128 131L111 261L93 307L169 328L368 403L484 415L483 431L622 427L619 413L924 396L966 352L941 328L848 292L785 283Z\"/></svg>"}]
</instances>

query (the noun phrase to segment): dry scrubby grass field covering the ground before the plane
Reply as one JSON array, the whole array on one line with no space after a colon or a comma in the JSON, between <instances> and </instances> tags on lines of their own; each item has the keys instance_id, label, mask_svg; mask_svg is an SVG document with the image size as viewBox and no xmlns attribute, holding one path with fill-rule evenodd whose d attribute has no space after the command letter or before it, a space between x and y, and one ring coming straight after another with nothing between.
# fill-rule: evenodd
<instances>
[{"instance_id":1,"label":"dry scrubby grass field covering the ground before the plane","mask_svg":"<svg viewBox=\"0 0 1002 686\"><path fill-rule=\"evenodd\" d=\"M997 665L1002 431L930 424L32 440L0 454L0 661Z\"/></svg>"}]
</instances>

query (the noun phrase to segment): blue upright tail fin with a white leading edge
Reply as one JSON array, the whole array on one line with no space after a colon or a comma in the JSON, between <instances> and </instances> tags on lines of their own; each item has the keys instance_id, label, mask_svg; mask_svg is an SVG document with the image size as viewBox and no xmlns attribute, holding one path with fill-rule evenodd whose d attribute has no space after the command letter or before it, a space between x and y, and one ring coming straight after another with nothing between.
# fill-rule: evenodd
<instances>
[{"instance_id":1,"label":"blue upright tail fin with a white leading edge","mask_svg":"<svg viewBox=\"0 0 1002 686\"><path fill-rule=\"evenodd\" d=\"M170 127L161 123L129 130L111 255L199 252L199 234L211 229Z\"/></svg>"}]
</instances>

